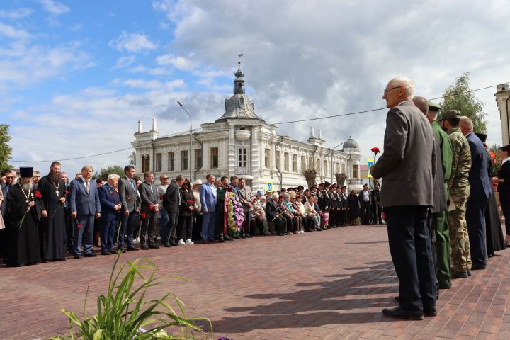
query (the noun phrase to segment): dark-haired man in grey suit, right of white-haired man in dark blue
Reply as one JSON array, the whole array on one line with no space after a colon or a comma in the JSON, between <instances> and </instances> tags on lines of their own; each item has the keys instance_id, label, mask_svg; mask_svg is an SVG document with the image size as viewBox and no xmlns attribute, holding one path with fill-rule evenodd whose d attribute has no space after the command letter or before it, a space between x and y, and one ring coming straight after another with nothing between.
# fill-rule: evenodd
<instances>
[{"instance_id":1,"label":"dark-haired man in grey suit, right of white-haired man in dark blue","mask_svg":"<svg viewBox=\"0 0 510 340\"><path fill-rule=\"evenodd\" d=\"M118 181L118 193L122 205L120 215L120 230L117 241L117 249L123 251L124 237L128 236L128 250L138 250L133 245L133 229L135 229L135 217L140 212L140 197L137 194L135 166L128 165L124 168L125 176Z\"/></svg>"}]
</instances>

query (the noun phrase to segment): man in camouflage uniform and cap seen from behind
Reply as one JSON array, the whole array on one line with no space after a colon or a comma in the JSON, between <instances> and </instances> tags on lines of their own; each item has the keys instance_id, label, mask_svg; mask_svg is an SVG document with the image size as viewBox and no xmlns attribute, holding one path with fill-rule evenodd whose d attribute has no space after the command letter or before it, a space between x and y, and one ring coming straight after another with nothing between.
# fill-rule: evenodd
<instances>
[{"instance_id":1,"label":"man in camouflage uniform and cap seen from behind","mask_svg":"<svg viewBox=\"0 0 510 340\"><path fill-rule=\"evenodd\" d=\"M471 273L471 255L465 207L470 195L467 177L471 169L471 152L459 128L460 112L458 110L445 111L440 122L441 128L448 133L452 146L451 177L448 181L448 191L450 191L448 227L452 249L451 278L467 278Z\"/></svg>"}]
</instances>

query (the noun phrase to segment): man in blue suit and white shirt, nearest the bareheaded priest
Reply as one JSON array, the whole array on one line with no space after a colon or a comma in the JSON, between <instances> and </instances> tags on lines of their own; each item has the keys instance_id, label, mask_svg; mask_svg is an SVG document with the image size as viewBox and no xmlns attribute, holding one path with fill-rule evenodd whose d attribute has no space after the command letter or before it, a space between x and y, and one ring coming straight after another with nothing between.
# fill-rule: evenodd
<instances>
[{"instance_id":1,"label":"man in blue suit and white shirt, nearest the bareheaded priest","mask_svg":"<svg viewBox=\"0 0 510 340\"><path fill-rule=\"evenodd\" d=\"M74 259L81 259L81 238L85 245L85 257L94 254L92 240L94 238L94 217L101 217L96 181L92 179L92 166L81 168L81 177L73 179L69 185L69 210L74 221Z\"/></svg>"}]
</instances>

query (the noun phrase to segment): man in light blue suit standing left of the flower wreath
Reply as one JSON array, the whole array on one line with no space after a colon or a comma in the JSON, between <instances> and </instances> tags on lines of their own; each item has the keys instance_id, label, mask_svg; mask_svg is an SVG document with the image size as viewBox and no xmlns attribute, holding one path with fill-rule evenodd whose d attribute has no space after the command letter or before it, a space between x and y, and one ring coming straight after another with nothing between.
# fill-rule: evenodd
<instances>
[{"instance_id":1,"label":"man in light blue suit standing left of the flower wreath","mask_svg":"<svg viewBox=\"0 0 510 340\"><path fill-rule=\"evenodd\" d=\"M202 204L202 240L204 243L215 242L215 209L217 203L217 192L214 182L215 175L208 174L205 177L207 183L200 187L200 203Z\"/></svg>"}]
</instances>

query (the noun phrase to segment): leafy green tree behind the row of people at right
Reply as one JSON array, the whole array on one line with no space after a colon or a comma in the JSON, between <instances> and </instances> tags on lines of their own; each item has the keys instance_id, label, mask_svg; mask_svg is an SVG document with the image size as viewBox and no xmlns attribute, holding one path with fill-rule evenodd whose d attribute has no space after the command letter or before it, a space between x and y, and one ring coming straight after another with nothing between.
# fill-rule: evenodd
<instances>
[{"instance_id":1,"label":"leafy green tree behind the row of people at right","mask_svg":"<svg viewBox=\"0 0 510 340\"><path fill-rule=\"evenodd\" d=\"M455 79L455 82L443 91L444 101L440 103L443 110L458 110L461 115L471 118L475 132L487 133L487 113L483 112L484 104L479 101L470 89L469 72Z\"/></svg>"}]
</instances>

